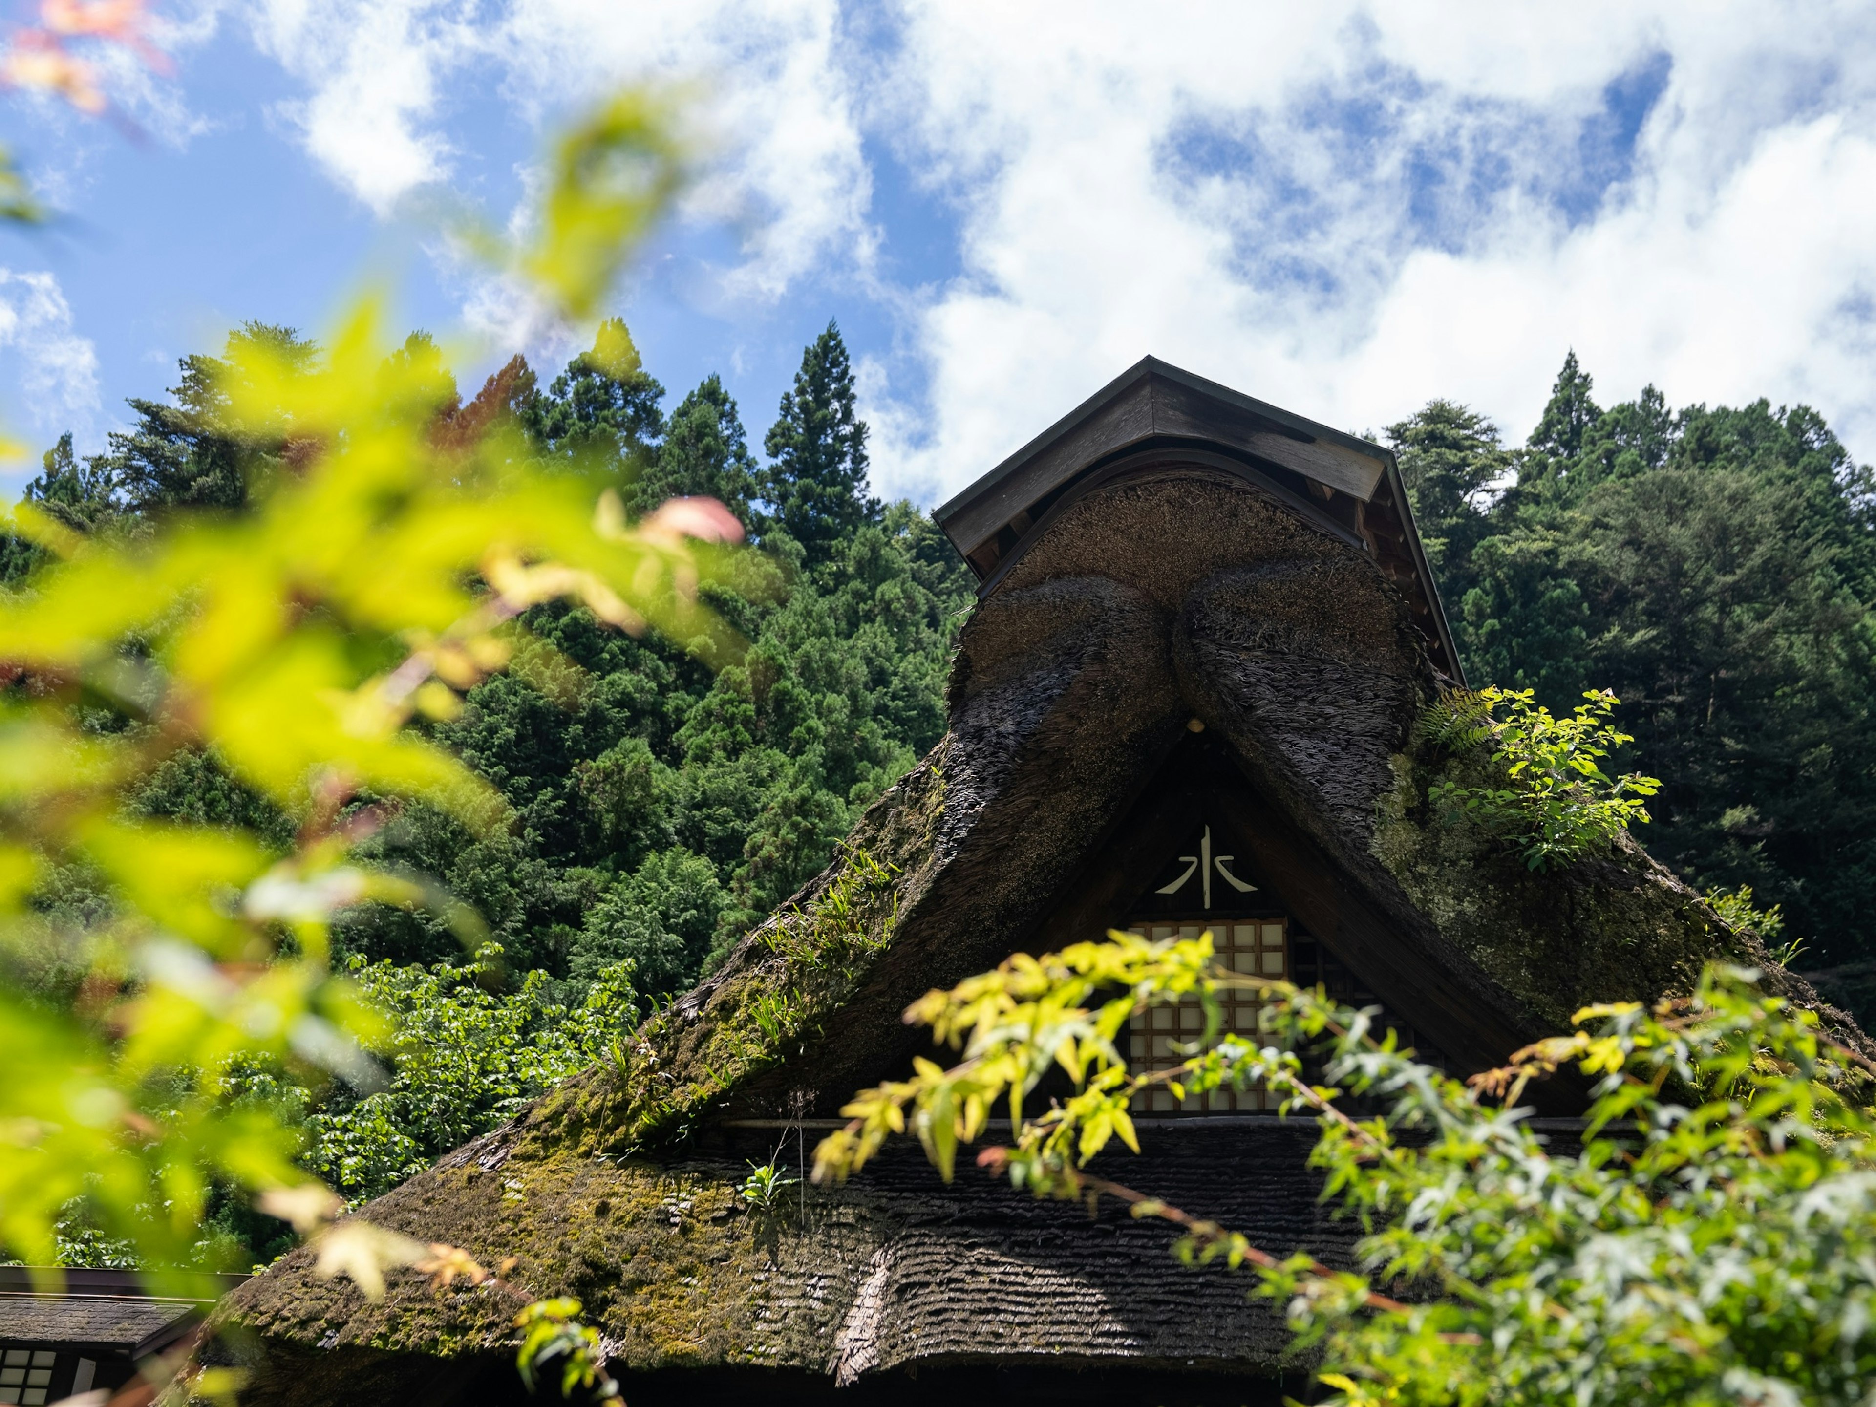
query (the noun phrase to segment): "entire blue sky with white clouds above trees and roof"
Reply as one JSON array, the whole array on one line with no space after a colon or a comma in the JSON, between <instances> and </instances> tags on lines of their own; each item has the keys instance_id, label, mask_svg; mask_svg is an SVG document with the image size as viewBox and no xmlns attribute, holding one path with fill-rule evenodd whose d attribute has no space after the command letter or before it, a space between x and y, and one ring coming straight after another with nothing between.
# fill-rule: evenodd
<instances>
[{"instance_id":1,"label":"entire blue sky with white clouds above trees and roof","mask_svg":"<svg viewBox=\"0 0 1876 1407\"><path fill-rule=\"evenodd\" d=\"M28 15L24 0L17 0ZM625 81L711 159L619 291L673 400L760 441L839 319L874 482L932 503L1154 353L1369 430L1431 396L1521 441L1568 347L1604 403L1810 401L1876 458L1876 8L165 0L118 122L26 98L64 212L0 233L0 415L96 446L242 319L366 280L563 362L413 214L525 201ZM473 386L471 386L473 388Z\"/></svg>"}]
</instances>

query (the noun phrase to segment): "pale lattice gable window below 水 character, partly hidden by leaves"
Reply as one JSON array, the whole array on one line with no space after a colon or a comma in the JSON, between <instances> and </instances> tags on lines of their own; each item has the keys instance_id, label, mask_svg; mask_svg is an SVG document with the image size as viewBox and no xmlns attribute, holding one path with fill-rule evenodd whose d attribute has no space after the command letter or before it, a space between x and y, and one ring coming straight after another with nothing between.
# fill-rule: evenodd
<instances>
[{"instance_id":1,"label":"pale lattice gable window below \u6c34 character, partly hidden by leaves","mask_svg":"<svg viewBox=\"0 0 1876 1407\"><path fill-rule=\"evenodd\" d=\"M1218 961L1233 972L1259 977L1289 977L1289 923L1285 919L1131 925L1133 932L1154 940L1197 938L1206 929L1212 930L1212 947L1218 951ZM1264 1021L1255 992L1225 992L1223 1007L1225 1030L1248 1039L1259 1037ZM1172 1049L1172 1041L1195 1041L1203 1034L1204 1007L1197 1000L1135 1011L1127 1022L1131 1067L1137 1073L1172 1069L1186 1060L1186 1056ZM1214 1090L1206 1096L1188 1094L1184 1101L1176 1101L1171 1090L1152 1090L1133 1096L1135 1112L1144 1114L1242 1114L1276 1107L1276 1097L1261 1088Z\"/></svg>"}]
</instances>

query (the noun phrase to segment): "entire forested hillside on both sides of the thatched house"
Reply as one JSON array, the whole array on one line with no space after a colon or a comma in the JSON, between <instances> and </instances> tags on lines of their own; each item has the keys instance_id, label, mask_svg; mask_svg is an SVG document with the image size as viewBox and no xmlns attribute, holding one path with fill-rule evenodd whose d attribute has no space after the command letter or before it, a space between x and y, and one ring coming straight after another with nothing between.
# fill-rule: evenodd
<instances>
[{"instance_id":1,"label":"entire forested hillside on both sides of the thatched house","mask_svg":"<svg viewBox=\"0 0 1876 1407\"><path fill-rule=\"evenodd\" d=\"M184 358L167 398L129 401L103 454L79 458L64 437L26 497L84 533L137 535L178 508L244 512L295 454L225 430L225 379L257 340L317 356L293 330L248 325L221 356ZM398 356L448 375L424 334ZM760 452L720 377L666 394L617 321L546 385L516 356L473 398L443 386L437 400L439 441L507 422L525 454L600 475L628 510L720 499L758 552L711 587L747 642L726 668L583 608L538 606L514 668L422 724L505 810L471 827L407 805L366 844L370 861L460 900L364 906L336 929L398 1019L390 1088L360 1097L236 1071L298 1109L302 1161L353 1199L595 1058L643 1002L688 989L816 874L942 735L949 651L974 602L930 516L872 497L833 325L803 351ZM1756 908L1777 906L1805 944L1797 966L1876 1015L1870 471L1807 407L1670 411L1647 388L1604 409L1574 355L1521 445L1450 401L1384 439L1469 683L1533 688L1553 709L1613 688L1636 735L1619 764L1664 780L1640 839L1702 889L1748 885ZM38 561L0 540L9 587ZM98 726L122 724L99 713ZM242 822L283 846L295 829L206 754L167 764L135 805ZM101 904L77 872L41 895L54 921ZM229 1203L214 1234L266 1255L281 1231ZM75 1218L69 1263L114 1259L86 1234Z\"/></svg>"}]
</instances>

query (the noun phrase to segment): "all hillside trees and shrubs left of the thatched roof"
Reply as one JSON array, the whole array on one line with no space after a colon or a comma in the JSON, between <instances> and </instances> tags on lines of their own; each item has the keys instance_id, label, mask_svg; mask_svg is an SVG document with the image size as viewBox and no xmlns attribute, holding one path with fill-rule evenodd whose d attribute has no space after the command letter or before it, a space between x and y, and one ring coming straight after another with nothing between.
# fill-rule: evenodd
<instances>
[{"instance_id":1,"label":"all hillside trees and shrubs left of the thatched roof","mask_svg":"<svg viewBox=\"0 0 1876 1407\"><path fill-rule=\"evenodd\" d=\"M302 360L317 351L259 325L229 341L231 353L250 341ZM615 486L630 512L673 495L724 501L760 552L713 589L745 642L728 668L713 672L683 642L602 627L583 608L542 606L523 617L514 668L475 688L458 717L426 724L493 782L507 814L471 827L403 805L360 857L439 882L486 929L446 904L366 906L338 925L360 983L396 1019L388 1090L296 1090L274 1067L227 1073L242 1097L287 1111L302 1161L347 1197L383 1191L591 1062L632 1028L640 996L688 989L814 876L861 809L942 735L951 640L974 597L929 516L867 493L867 428L833 326L782 398L767 465L715 375L666 416L664 388L617 321L546 388L516 356L463 401L424 334L394 360L435 371L441 445L507 424L523 435L520 452ZM79 458L62 437L26 497L86 533L143 535L176 508L244 512L293 473L295 446L229 428L231 366L184 358L169 400L131 401L129 428L103 454ZM0 538L8 583L43 557ZM135 726L109 707L94 724ZM293 842L295 818L204 752L171 758L135 805ZM54 923L109 908L94 876L75 870L53 874L38 902ZM45 970L36 985L69 998L75 979ZM204 1264L248 1264L283 1244L283 1229L238 1199L218 1195L208 1223ZM73 1264L129 1253L77 1206L62 1233ZM229 1238L248 1249L231 1251Z\"/></svg>"}]
</instances>

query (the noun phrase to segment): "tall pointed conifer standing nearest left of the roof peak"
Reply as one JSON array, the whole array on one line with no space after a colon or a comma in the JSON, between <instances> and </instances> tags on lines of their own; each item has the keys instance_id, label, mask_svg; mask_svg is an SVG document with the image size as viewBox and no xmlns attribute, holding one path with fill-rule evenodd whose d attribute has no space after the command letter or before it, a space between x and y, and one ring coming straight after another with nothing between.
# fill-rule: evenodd
<instances>
[{"instance_id":1,"label":"tall pointed conifer standing nearest left of the roof peak","mask_svg":"<svg viewBox=\"0 0 1876 1407\"><path fill-rule=\"evenodd\" d=\"M854 415L854 366L833 321L801 353L795 386L762 446L771 460L760 478L769 522L801 544L809 563L878 522L880 501L867 493L867 422Z\"/></svg>"}]
</instances>

